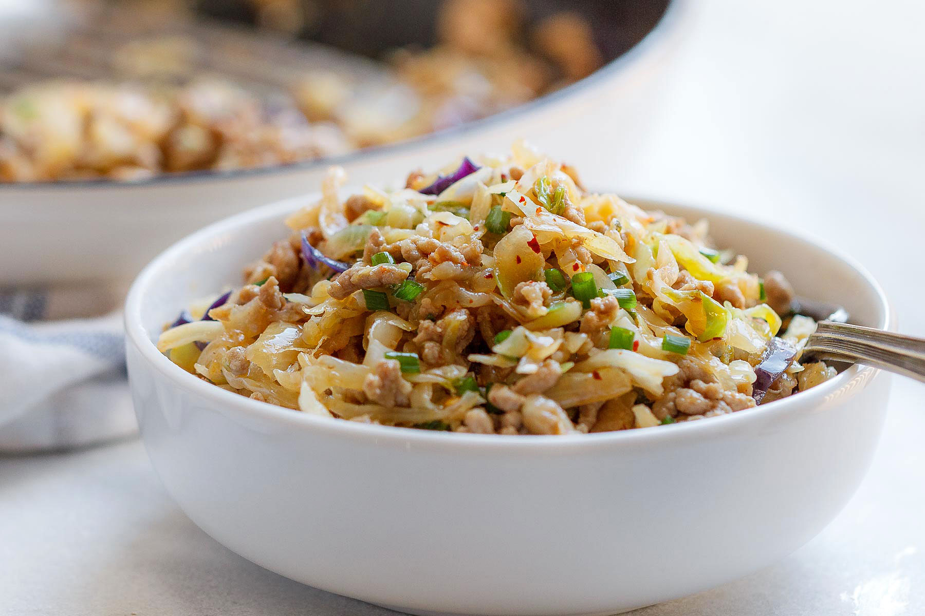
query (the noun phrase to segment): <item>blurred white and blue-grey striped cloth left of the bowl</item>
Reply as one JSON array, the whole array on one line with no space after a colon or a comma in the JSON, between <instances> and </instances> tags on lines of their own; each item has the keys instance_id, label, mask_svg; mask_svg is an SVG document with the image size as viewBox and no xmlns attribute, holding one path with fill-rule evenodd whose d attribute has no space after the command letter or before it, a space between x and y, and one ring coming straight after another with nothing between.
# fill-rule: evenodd
<instances>
[{"instance_id":1,"label":"blurred white and blue-grey striped cloth left of the bowl","mask_svg":"<svg viewBox=\"0 0 925 616\"><path fill-rule=\"evenodd\" d=\"M0 450L89 444L133 429L121 310L105 289L0 289Z\"/></svg>"}]
</instances>

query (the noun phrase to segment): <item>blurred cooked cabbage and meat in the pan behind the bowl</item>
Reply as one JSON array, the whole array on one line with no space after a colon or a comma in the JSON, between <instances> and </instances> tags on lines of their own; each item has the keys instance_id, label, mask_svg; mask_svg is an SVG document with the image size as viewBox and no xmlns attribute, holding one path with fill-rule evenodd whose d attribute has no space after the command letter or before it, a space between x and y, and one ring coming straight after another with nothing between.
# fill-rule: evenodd
<instances>
[{"instance_id":1,"label":"blurred cooked cabbage and meat in the pan behind the bowl","mask_svg":"<svg viewBox=\"0 0 925 616\"><path fill-rule=\"evenodd\" d=\"M373 68L358 57L331 66L306 47L298 68L289 61L256 83L236 82L267 70L248 64L261 53L256 43L214 50L170 29L153 40L132 37L113 53L124 82L43 80L4 97L0 182L138 180L337 156L511 109L603 64L577 13L560 11L529 32L524 27L519 2L450 0L430 49L401 49ZM240 38L232 34L232 42ZM88 45L74 39L73 46ZM67 65L72 45L60 46L58 64ZM197 75L194 58L209 54L232 54L232 67L240 55L247 79L233 79L229 67Z\"/></svg>"}]
</instances>

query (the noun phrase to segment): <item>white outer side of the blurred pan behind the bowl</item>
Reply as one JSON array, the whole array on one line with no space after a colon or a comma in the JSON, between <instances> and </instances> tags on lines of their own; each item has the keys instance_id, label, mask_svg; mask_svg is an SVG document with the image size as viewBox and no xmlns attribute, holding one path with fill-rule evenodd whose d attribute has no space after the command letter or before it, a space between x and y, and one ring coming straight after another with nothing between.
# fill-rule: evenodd
<instances>
[{"instance_id":1,"label":"white outer side of the blurred pan behind the bowl","mask_svg":"<svg viewBox=\"0 0 925 616\"><path fill-rule=\"evenodd\" d=\"M506 151L536 136L547 151L575 151L588 128L608 145L608 163L634 157L692 12L673 0L660 23L625 54L573 85L461 127L337 159L230 173L111 181L0 185L0 286L61 281L125 282L160 250L207 223L314 190L330 164L352 177L395 183L422 161L466 151ZM581 150L578 150L580 152ZM570 161L588 173L598 159ZM602 175L605 176L605 175Z\"/></svg>"}]
</instances>

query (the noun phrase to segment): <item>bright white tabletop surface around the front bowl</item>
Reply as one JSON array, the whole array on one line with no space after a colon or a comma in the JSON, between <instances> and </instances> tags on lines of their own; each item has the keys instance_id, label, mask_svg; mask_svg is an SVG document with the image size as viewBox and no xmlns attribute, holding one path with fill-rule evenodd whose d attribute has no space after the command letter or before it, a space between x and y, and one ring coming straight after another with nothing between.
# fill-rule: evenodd
<instances>
[{"instance_id":1,"label":"bright white tabletop surface around the front bowl","mask_svg":"<svg viewBox=\"0 0 925 616\"><path fill-rule=\"evenodd\" d=\"M864 262L900 327L925 335L916 275L925 244L925 6L712 0L701 9L651 142L630 168L598 167L588 179L792 220ZM596 147L589 132L569 160L600 160ZM636 613L925 613L925 390L894 382L870 475L819 537L757 574ZM129 441L0 458L0 613L393 612L225 550L169 500L141 444Z\"/></svg>"}]
</instances>

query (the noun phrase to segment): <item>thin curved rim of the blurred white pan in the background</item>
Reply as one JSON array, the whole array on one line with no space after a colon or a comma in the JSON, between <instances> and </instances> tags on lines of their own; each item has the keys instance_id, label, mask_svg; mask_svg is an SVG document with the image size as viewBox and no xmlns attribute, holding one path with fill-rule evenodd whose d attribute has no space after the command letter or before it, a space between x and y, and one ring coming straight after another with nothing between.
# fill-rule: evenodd
<instances>
[{"instance_id":1,"label":"thin curved rim of the blurred white pan in the background","mask_svg":"<svg viewBox=\"0 0 925 616\"><path fill-rule=\"evenodd\" d=\"M613 58L610 62L598 68L584 79L579 79L561 90L552 91L539 96L532 101L519 104L516 107L501 111L497 114L488 115L477 120L464 122L455 127L443 128L425 135L419 135L411 139L402 139L394 143L373 146L362 150L351 151L346 154L329 156L308 161L297 161L294 163L273 164L265 167L253 167L248 169L231 169L215 170L204 169L200 171L189 171L180 173L163 173L140 180L115 180L109 178L96 178L87 180L61 180L50 182L6 182L0 183L0 193L3 191L24 189L24 190L74 190L77 188L91 189L117 189L133 187L152 187L161 185L185 185L198 184L212 180L226 181L236 179L247 179L252 177L263 177L265 175L285 175L287 173L298 173L323 169L331 165L346 165L352 163L362 163L365 161L376 160L380 156L389 154L403 153L413 151L415 148L426 147L432 142L439 140L449 140L456 136L473 133L482 129L497 126L508 122L513 117L521 115L530 115L540 110L545 110L556 103L567 101L575 95L591 91L599 85L616 76L629 66L642 62L648 55L654 54L663 40L671 38L670 35L679 30L685 13L690 11L691 0L668 0L668 5L661 14L659 20L651 30L635 45L627 49L623 54Z\"/></svg>"}]
</instances>

